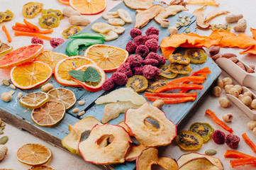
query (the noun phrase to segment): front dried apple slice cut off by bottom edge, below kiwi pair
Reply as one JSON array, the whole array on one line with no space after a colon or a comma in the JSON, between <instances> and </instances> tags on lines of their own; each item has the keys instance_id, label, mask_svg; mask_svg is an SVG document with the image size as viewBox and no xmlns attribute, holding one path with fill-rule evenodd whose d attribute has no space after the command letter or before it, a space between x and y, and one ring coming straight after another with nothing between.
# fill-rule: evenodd
<instances>
[{"instance_id":1,"label":"front dried apple slice cut off by bottom edge, below kiwi pair","mask_svg":"<svg viewBox=\"0 0 256 170\"><path fill-rule=\"evenodd\" d=\"M179 170L199 170L199 169L219 170L218 166L213 165L213 163L211 163L205 157L191 159L186 164L179 166Z\"/></svg>"}]
</instances>

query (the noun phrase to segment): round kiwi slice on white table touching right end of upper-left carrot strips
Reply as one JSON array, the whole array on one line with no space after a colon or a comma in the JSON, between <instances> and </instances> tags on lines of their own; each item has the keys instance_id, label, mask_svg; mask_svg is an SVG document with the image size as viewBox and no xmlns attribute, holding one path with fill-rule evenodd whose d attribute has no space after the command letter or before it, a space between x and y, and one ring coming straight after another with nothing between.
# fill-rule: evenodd
<instances>
[{"instance_id":1,"label":"round kiwi slice on white table touching right end of upper-left carrot strips","mask_svg":"<svg viewBox=\"0 0 256 170\"><path fill-rule=\"evenodd\" d=\"M42 28L55 28L60 24L60 18L55 14L46 14L42 18L38 18L39 24Z\"/></svg>"}]
</instances>

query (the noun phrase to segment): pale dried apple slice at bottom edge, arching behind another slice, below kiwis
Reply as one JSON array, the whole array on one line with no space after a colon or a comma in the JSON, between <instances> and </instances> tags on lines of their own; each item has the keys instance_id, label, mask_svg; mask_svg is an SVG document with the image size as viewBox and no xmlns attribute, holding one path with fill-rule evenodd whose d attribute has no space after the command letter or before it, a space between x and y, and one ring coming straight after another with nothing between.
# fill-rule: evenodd
<instances>
[{"instance_id":1,"label":"pale dried apple slice at bottom edge, arching behind another slice, below kiwis","mask_svg":"<svg viewBox=\"0 0 256 170\"><path fill-rule=\"evenodd\" d=\"M196 153L196 152L191 152L189 154L183 154L182 157L179 157L179 159L177 160L177 163L178 163L179 167L181 167L182 165L189 162L191 159L196 159L196 158L199 158L199 157L205 157L212 164L214 164L215 166L218 166L218 168L220 170L223 170L223 165L222 165L220 159L218 159L216 157L208 156L206 154L199 154L199 153Z\"/></svg>"}]
</instances>

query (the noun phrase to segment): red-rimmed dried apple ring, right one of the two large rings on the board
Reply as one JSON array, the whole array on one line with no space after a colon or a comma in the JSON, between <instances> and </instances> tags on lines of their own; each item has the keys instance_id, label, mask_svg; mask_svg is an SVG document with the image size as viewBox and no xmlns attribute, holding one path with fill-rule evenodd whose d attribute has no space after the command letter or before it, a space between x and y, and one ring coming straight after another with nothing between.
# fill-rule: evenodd
<instances>
[{"instance_id":1,"label":"red-rimmed dried apple ring, right one of the two large rings on the board","mask_svg":"<svg viewBox=\"0 0 256 170\"><path fill-rule=\"evenodd\" d=\"M164 112L148 102L138 109L129 108L125 116L126 125L142 145L148 147L166 146L177 136L176 125L166 118ZM156 120L160 128L148 128L148 125L145 125L147 118Z\"/></svg>"}]
</instances>

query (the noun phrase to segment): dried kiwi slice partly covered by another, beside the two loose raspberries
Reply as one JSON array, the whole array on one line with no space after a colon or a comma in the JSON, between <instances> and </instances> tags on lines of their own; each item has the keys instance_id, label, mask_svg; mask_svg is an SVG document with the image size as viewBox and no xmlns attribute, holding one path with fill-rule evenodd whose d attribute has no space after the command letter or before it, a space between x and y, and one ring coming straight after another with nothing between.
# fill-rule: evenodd
<instances>
[{"instance_id":1,"label":"dried kiwi slice partly covered by another, beside the two loose raspberries","mask_svg":"<svg viewBox=\"0 0 256 170\"><path fill-rule=\"evenodd\" d=\"M193 123L189 127L189 131L196 132L203 138L204 142L207 142L211 139L211 135L213 135L214 129L208 123Z\"/></svg>"}]
</instances>

